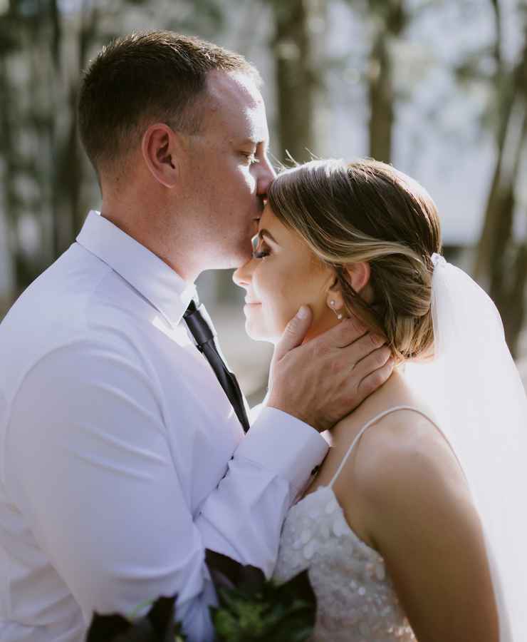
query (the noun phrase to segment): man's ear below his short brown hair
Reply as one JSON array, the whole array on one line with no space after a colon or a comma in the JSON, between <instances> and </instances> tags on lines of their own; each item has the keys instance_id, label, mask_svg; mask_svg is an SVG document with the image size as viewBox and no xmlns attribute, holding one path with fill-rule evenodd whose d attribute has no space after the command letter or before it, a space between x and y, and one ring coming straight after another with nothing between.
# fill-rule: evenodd
<instances>
[{"instance_id":1,"label":"man's ear below his short brown hair","mask_svg":"<svg viewBox=\"0 0 527 642\"><path fill-rule=\"evenodd\" d=\"M152 176L171 189L179 175L179 139L165 123L154 123L145 131L141 141L142 157Z\"/></svg>"}]
</instances>

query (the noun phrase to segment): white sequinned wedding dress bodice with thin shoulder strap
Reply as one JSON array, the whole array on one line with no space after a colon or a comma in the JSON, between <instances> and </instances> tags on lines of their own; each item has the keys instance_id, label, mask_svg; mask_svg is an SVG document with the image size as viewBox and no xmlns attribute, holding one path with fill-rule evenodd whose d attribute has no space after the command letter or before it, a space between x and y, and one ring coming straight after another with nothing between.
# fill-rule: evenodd
<instances>
[{"instance_id":1,"label":"white sequinned wedding dress bodice with thin shoulder strap","mask_svg":"<svg viewBox=\"0 0 527 642\"><path fill-rule=\"evenodd\" d=\"M320 486L291 506L283 524L273 574L287 581L304 569L317 598L317 620L311 642L410 642L412 628L397 599L382 556L358 538L338 504L333 484L367 427L362 427L328 486ZM433 422L433 421L432 421ZM434 423L434 422L433 422Z\"/></svg>"}]
</instances>

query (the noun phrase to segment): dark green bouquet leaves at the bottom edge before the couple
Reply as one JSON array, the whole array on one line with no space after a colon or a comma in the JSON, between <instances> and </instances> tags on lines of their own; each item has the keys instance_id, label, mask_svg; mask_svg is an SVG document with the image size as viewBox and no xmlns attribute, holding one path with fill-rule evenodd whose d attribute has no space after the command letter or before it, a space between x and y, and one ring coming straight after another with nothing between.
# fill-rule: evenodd
<instances>
[{"instance_id":1,"label":"dark green bouquet leaves at the bottom edge before the couple","mask_svg":"<svg viewBox=\"0 0 527 642\"><path fill-rule=\"evenodd\" d=\"M311 636L316 598L308 571L278 585L256 566L216 551L207 549L205 561L218 595L218 606L209 608L219 642L303 642ZM86 642L184 642L176 600L175 595L160 596L128 616L95 613ZM148 604L147 615L135 618Z\"/></svg>"}]
</instances>

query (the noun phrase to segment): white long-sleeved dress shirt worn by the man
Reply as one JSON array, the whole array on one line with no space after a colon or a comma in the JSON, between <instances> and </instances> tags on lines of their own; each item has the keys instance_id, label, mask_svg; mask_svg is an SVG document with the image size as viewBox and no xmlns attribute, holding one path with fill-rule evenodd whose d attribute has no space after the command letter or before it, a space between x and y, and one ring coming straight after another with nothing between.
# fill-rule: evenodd
<instances>
[{"instance_id":1,"label":"white long-sleeved dress shirt worn by the man","mask_svg":"<svg viewBox=\"0 0 527 642\"><path fill-rule=\"evenodd\" d=\"M81 642L94 610L174 593L206 642L204 550L271 576L328 444L273 408L244 435L182 321L194 295L91 211L1 323L1 642Z\"/></svg>"}]
</instances>

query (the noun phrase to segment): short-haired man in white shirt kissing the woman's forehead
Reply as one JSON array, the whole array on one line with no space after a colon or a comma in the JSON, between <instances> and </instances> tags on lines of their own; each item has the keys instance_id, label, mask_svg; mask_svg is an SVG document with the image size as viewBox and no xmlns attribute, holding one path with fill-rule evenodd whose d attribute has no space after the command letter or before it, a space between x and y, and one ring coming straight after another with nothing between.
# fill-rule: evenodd
<instances>
[{"instance_id":1,"label":"short-haired man in white shirt kissing the woman's forehead","mask_svg":"<svg viewBox=\"0 0 527 642\"><path fill-rule=\"evenodd\" d=\"M258 83L168 32L116 41L85 75L102 211L0 327L3 642L80 642L93 611L174 593L189 640L211 640L204 550L270 576L319 433L390 374L357 322L301 345L304 308L244 435L193 282L250 256L273 179Z\"/></svg>"}]
</instances>

